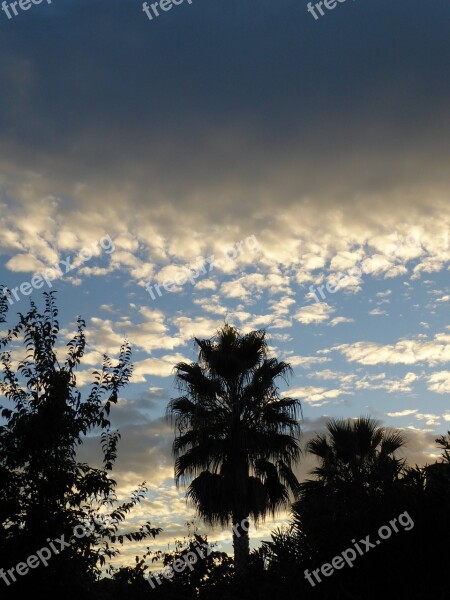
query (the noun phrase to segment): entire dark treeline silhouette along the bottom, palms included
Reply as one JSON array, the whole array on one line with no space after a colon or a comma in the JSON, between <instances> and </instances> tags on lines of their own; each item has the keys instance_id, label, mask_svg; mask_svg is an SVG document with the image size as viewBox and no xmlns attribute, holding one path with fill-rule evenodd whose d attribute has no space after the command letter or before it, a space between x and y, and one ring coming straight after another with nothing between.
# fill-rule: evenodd
<instances>
[{"instance_id":1,"label":"entire dark treeline silhouette along the bottom, palms included","mask_svg":"<svg viewBox=\"0 0 450 600\"><path fill-rule=\"evenodd\" d=\"M42 312L32 302L0 333L2 597L450 597L450 434L436 440L440 458L417 467L398 458L405 445L399 432L369 417L330 420L305 448L316 468L298 482L300 404L278 390L290 367L269 356L264 331L243 334L228 325L209 340L196 339L198 362L176 365L181 396L169 403L168 418L175 427L175 479L187 485L205 523L230 526L234 559L193 530L172 552L148 550L133 565L111 568L109 560L127 540L145 545L161 531L150 520L124 529L145 482L120 504L112 476L120 434L109 415L132 374L130 347L124 344L115 361L104 357L83 397L76 370L85 351L84 321L78 319L61 359L58 310L53 294L44 296ZM0 323L7 310L0 289ZM86 436L100 440L100 467L77 458ZM288 524L250 551L248 520L261 521L283 507L290 511ZM376 544L383 526L391 535ZM354 550L351 565L332 574L323 568L348 548L367 547L362 540L369 539L370 551ZM195 553L195 564L187 566L186 556ZM158 577L155 561L170 577Z\"/></svg>"}]
</instances>

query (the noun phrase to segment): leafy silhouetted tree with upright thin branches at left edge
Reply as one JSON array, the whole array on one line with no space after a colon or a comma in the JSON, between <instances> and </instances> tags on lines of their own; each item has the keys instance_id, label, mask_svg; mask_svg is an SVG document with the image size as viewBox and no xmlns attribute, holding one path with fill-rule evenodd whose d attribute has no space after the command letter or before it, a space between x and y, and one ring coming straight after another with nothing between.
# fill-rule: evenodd
<instances>
[{"instance_id":1,"label":"leafy silhouetted tree with upright thin branches at left edge","mask_svg":"<svg viewBox=\"0 0 450 600\"><path fill-rule=\"evenodd\" d=\"M89 597L102 566L119 553L116 543L154 537L160 529L146 523L136 531L121 532L146 488L141 484L130 501L118 504L116 481L110 476L120 434L111 430L109 415L132 373L130 347L122 345L115 363L104 356L83 399L76 369L86 346L85 323L78 318L77 332L60 364L58 310L53 292L44 297L43 313L31 302L28 313L19 314L18 324L0 338L0 565L9 569L26 562L61 536L74 543L52 552L47 567L29 569L24 576L13 572L0 585L3 595L11 597L20 592ZM7 309L0 295L0 323L6 322ZM14 371L20 341L26 355ZM101 439L100 468L77 460L83 439L93 435ZM77 526L86 532L83 536L82 529L76 530L80 539L74 537ZM59 544L54 547L59 549Z\"/></svg>"}]
</instances>

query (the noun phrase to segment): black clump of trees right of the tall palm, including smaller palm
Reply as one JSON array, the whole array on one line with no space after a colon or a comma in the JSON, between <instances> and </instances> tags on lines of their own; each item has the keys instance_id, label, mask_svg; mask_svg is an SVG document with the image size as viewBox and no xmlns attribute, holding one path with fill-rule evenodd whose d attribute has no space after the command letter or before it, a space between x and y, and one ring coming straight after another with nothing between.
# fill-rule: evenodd
<instances>
[{"instance_id":1,"label":"black clump of trees right of the tall palm, including smaller palm","mask_svg":"<svg viewBox=\"0 0 450 600\"><path fill-rule=\"evenodd\" d=\"M448 438L436 441L443 459L412 469L395 456L404 444L400 433L368 418L331 420L327 432L307 445L319 460L315 478L300 485L289 525L263 544L279 590L307 600L447 598L450 444ZM399 525L400 515L408 517L407 531ZM381 526L390 526L392 535L375 544ZM369 552L360 542L367 535L373 543ZM311 585L305 569L310 576L318 569L320 577L322 565L352 547L352 568L334 569L331 577L321 575L320 583L313 578Z\"/></svg>"}]
</instances>

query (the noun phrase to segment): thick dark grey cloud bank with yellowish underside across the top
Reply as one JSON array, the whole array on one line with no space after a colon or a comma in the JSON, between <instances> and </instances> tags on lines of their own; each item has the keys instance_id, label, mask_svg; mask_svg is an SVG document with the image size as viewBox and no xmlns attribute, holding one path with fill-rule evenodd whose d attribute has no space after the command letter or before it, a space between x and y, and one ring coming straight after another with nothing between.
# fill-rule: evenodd
<instances>
[{"instance_id":1,"label":"thick dark grey cloud bank with yellowish underside across the top","mask_svg":"<svg viewBox=\"0 0 450 600\"><path fill-rule=\"evenodd\" d=\"M101 207L112 231L139 215L172 239L257 234L274 198L285 235L318 237L317 206L333 239L336 205L355 237L405 208L442 220L447 0L349 1L320 21L303 0L194 0L152 22L134 0L54 4L0 21L7 203L56 196L71 227Z\"/></svg>"}]
</instances>

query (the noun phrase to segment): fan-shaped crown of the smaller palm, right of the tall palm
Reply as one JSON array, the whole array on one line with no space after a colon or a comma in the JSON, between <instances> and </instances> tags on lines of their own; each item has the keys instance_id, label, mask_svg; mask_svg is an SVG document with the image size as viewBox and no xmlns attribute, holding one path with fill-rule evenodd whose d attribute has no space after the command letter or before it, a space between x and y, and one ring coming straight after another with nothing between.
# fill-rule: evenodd
<instances>
[{"instance_id":1,"label":"fan-shaped crown of the smaller palm, right of the tall palm","mask_svg":"<svg viewBox=\"0 0 450 600\"><path fill-rule=\"evenodd\" d=\"M307 451L319 458L312 474L329 484L376 485L395 480L404 461L394 453L405 444L397 431L387 431L370 417L331 419L327 433L307 444Z\"/></svg>"}]
</instances>

